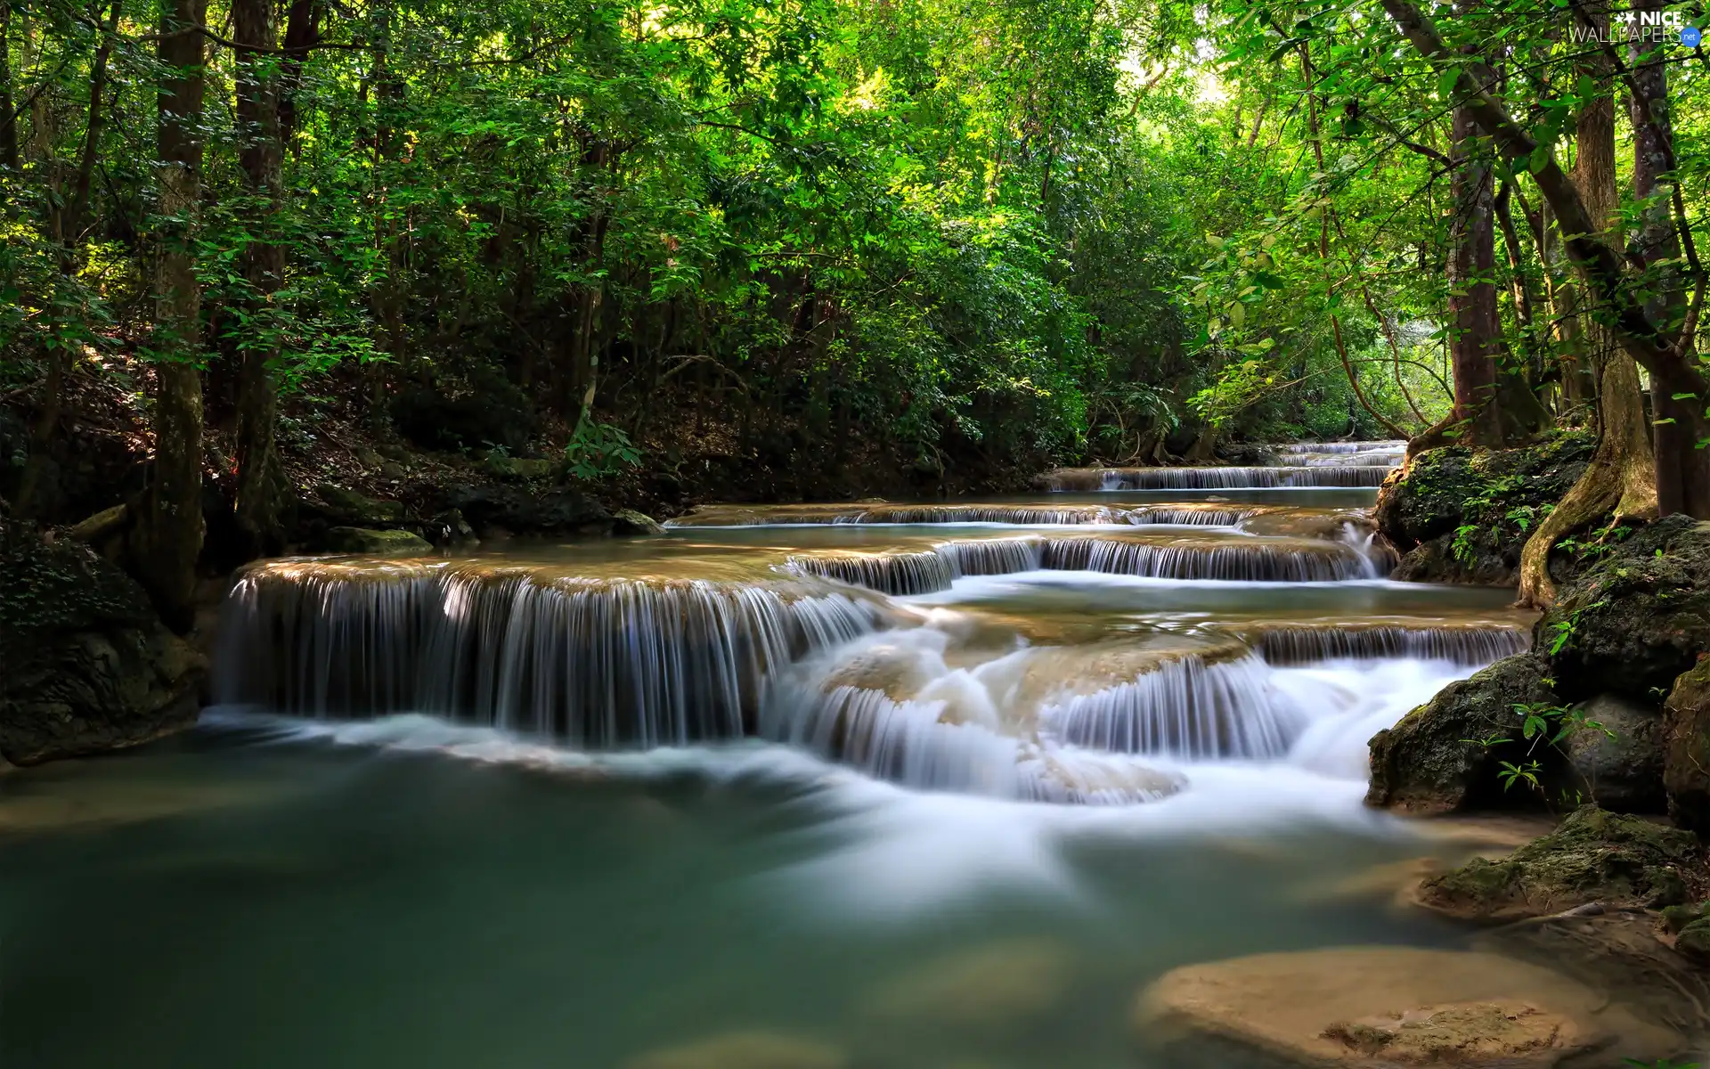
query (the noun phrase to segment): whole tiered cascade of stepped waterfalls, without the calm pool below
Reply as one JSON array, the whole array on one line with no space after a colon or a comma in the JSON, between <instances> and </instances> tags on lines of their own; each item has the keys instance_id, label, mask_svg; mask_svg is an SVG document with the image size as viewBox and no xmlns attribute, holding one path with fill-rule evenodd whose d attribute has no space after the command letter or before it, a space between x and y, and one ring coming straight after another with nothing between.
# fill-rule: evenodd
<instances>
[{"instance_id":1,"label":"whole tiered cascade of stepped waterfalls, without the calm pool below","mask_svg":"<svg viewBox=\"0 0 1710 1069\"><path fill-rule=\"evenodd\" d=\"M1382 475L1390 445L1144 470L1248 487L1267 484L1253 472ZM934 532L884 530L920 525ZM1366 669L1324 665L1442 665L1430 681L1524 648L1524 621L1414 594L1382 611L1400 599L1377 583L1389 559L1347 508L718 506L660 539L527 558L258 564L226 609L219 686L299 717L419 712L593 749L759 735L918 788L1153 800L1207 763L1291 761L1306 737L1322 761L1325 710L1347 730L1394 715L1394 696L1378 708L1342 681ZM1132 597L1115 597L1123 580ZM1351 614L1289 612L1288 588ZM1115 602L1064 626L1040 616L1043 590ZM1195 590L1223 594L1178 611Z\"/></svg>"}]
</instances>

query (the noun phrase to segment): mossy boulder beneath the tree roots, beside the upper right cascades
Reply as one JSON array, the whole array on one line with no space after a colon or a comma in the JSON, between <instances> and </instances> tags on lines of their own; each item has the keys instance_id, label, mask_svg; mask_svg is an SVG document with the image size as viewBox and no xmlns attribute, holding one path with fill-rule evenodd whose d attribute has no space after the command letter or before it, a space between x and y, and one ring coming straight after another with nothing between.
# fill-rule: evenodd
<instances>
[{"instance_id":1,"label":"mossy boulder beneath the tree roots, beside the upper right cascades","mask_svg":"<svg viewBox=\"0 0 1710 1069\"><path fill-rule=\"evenodd\" d=\"M1378 491L1378 530L1404 556L1395 578L1513 585L1537 520L1585 472L1595 438L1558 431L1515 450L1428 450ZM1551 558L1553 570L1571 561Z\"/></svg>"}]
</instances>

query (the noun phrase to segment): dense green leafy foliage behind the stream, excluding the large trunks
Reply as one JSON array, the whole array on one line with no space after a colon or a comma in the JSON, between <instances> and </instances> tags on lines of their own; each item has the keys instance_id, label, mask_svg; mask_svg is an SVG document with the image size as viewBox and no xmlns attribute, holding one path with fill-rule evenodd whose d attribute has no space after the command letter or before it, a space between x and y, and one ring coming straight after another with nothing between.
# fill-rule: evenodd
<instances>
[{"instance_id":1,"label":"dense green leafy foliage behind the stream, excluding the large trunks","mask_svg":"<svg viewBox=\"0 0 1710 1069\"><path fill-rule=\"evenodd\" d=\"M1447 412L1452 79L1375 5L298 0L243 53L224 2L192 227L215 424L245 351L299 414L443 428L477 395L516 417L434 445L621 433L619 465L1202 458ZM161 349L168 72L159 12L121 3L7 12L0 346L36 409L53 351L144 390ZM1546 144L1621 92L1575 74L1570 22L1448 21ZM1701 65L1669 77L1695 204ZM239 166L245 79L282 94L279 190ZM1503 344L1548 399L1568 267L1527 174L1498 180ZM245 270L263 245L277 292Z\"/></svg>"}]
</instances>

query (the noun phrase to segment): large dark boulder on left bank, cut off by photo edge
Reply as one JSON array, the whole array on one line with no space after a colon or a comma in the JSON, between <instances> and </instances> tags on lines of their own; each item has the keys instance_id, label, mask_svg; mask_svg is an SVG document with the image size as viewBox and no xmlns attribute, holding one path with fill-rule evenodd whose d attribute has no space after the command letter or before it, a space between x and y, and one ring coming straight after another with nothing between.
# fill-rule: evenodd
<instances>
[{"instance_id":1,"label":"large dark boulder on left bank, cut off by photo edge","mask_svg":"<svg viewBox=\"0 0 1710 1069\"><path fill-rule=\"evenodd\" d=\"M34 765L195 722L207 670L116 564L0 529L0 758Z\"/></svg>"}]
</instances>

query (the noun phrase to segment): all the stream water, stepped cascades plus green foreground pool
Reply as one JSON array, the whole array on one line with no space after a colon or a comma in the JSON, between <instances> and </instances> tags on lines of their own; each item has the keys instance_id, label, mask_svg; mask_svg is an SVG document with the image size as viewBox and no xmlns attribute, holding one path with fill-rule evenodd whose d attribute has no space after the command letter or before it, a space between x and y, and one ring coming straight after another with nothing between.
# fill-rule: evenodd
<instances>
[{"instance_id":1,"label":"all the stream water, stepped cascades plus green foreground pool","mask_svg":"<svg viewBox=\"0 0 1710 1069\"><path fill-rule=\"evenodd\" d=\"M253 566L200 729L0 777L3 1064L1159 1066L1175 965L1445 942L1366 739L1530 621L1382 578L1394 445Z\"/></svg>"}]
</instances>

